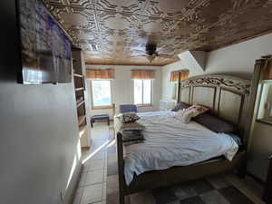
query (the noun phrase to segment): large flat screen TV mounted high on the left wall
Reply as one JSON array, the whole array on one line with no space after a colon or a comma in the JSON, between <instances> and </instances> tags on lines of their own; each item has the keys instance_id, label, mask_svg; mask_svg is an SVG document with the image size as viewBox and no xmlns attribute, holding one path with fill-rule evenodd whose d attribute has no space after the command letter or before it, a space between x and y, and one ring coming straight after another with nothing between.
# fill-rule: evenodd
<instances>
[{"instance_id":1,"label":"large flat screen TV mounted high on the left wall","mask_svg":"<svg viewBox=\"0 0 272 204\"><path fill-rule=\"evenodd\" d=\"M38 0L17 0L21 36L20 83L71 83L71 43Z\"/></svg>"}]
</instances>

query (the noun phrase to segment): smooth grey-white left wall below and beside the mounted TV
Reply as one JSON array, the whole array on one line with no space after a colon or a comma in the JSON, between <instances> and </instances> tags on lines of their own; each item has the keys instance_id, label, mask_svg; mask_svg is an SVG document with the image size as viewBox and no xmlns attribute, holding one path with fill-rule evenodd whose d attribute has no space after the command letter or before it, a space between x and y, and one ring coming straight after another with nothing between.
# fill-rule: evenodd
<instances>
[{"instance_id":1,"label":"smooth grey-white left wall below and beside the mounted TV","mask_svg":"<svg viewBox=\"0 0 272 204\"><path fill-rule=\"evenodd\" d=\"M15 1L3 2L0 10L8 22L0 49L0 202L68 203L80 170L73 83L17 83Z\"/></svg>"}]
</instances>

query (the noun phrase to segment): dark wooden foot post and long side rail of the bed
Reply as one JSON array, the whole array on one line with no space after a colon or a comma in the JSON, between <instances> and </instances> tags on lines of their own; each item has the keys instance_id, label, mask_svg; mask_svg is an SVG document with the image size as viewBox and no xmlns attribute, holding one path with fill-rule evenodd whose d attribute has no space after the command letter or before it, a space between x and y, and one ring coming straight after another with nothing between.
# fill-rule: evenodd
<instances>
[{"instance_id":1,"label":"dark wooden foot post and long side rail of the bed","mask_svg":"<svg viewBox=\"0 0 272 204\"><path fill-rule=\"evenodd\" d=\"M219 158L189 166L145 172L139 176L135 176L130 186L127 186L124 177L123 144L122 134L120 132L117 133L117 154L120 204L124 204L124 197L132 193L169 187L189 180L198 180L205 176L243 167L246 161L246 151L239 151L232 161Z\"/></svg>"}]
</instances>

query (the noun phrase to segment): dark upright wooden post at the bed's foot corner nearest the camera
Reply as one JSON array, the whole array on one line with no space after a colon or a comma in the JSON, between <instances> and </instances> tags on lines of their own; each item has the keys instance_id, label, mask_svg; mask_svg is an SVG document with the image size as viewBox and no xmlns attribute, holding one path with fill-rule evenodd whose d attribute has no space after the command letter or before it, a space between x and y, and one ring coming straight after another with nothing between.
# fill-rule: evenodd
<instances>
[{"instance_id":1,"label":"dark upright wooden post at the bed's foot corner nearest the camera","mask_svg":"<svg viewBox=\"0 0 272 204\"><path fill-rule=\"evenodd\" d=\"M124 160L123 160L123 150L122 150L122 134L121 132L117 133L117 160L118 160L118 174L119 174L119 202L124 204Z\"/></svg>"}]
</instances>

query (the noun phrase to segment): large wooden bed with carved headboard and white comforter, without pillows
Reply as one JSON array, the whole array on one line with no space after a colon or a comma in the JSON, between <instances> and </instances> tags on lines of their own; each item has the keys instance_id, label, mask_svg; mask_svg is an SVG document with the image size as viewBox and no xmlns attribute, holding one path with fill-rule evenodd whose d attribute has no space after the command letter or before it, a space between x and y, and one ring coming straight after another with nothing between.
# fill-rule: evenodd
<instances>
[{"instance_id":1,"label":"large wooden bed with carved headboard and white comforter, without pillows","mask_svg":"<svg viewBox=\"0 0 272 204\"><path fill-rule=\"evenodd\" d=\"M243 175L248 146L245 132L249 88L248 80L227 75L198 76L180 83L179 101L205 105L235 124L243 148L238 148L228 135L219 135L196 121L189 124L175 121L172 112L140 113L141 123L146 126L144 143L123 148L121 132L117 132L120 203L132 193L234 168Z\"/></svg>"}]
</instances>

